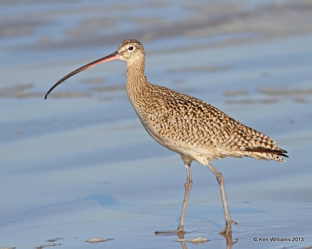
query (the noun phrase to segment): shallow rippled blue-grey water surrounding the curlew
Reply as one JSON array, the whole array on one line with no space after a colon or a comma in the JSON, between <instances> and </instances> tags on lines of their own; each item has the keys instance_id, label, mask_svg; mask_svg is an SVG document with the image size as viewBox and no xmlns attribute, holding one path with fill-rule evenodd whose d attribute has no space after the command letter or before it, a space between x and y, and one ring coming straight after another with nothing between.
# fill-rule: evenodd
<instances>
[{"instance_id":1,"label":"shallow rippled blue-grey water surrounding the curlew","mask_svg":"<svg viewBox=\"0 0 312 249\"><path fill-rule=\"evenodd\" d=\"M196 162L185 238L210 241L154 234L178 224L185 168L138 121L123 62L84 71L43 99L126 38L143 43L151 82L213 104L289 152L285 164L215 161L238 223L233 248L312 247L311 1L0 4L0 247L231 248L218 234L215 176ZM95 237L113 240L85 242Z\"/></svg>"}]
</instances>

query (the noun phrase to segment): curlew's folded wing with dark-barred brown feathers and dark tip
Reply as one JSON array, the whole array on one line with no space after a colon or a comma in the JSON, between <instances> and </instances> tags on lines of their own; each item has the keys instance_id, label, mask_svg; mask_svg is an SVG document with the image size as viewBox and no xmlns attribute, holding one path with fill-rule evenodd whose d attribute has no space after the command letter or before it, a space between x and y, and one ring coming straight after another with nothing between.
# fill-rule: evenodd
<instances>
[{"instance_id":1,"label":"curlew's folded wing with dark-barred brown feathers and dark tip","mask_svg":"<svg viewBox=\"0 0 312 249\"><path fill-rule=\"evenodd\" d=\"M162 137L200 148L273 153L285 156L270 137L234 120L212 105L189 95L171 92L162 98L156 128Z\"/></svg>"}]
</instances>

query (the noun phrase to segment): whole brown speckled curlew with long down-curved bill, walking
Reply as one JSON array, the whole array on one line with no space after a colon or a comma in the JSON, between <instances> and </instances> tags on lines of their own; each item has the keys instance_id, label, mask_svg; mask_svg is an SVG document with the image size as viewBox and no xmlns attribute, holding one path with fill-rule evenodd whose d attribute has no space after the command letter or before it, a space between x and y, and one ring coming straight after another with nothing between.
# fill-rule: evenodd
<instances>
[{"instance_id":1,"label":"whole brown speckled curlew with long down-curved bill, walking","mask_svg":"<svg viewBox=\"0 0 312 249\"><path fill-rule=\"evenodd\" d=\"M283 163L282 157L288 157L285 155L287 151L279 148L278 143L267 135L243 125L205 101L150 83L144 72L145 50L135 39L124 40L115 53L67 74L48 90L45 99L69 77L117 59L127 63L127 95L140 122L156 142L178 153L186 167L185 195L178 227L155 233L185 232L184 219L193 185L191 163L195 160L215 174L225 216L225 226L220 233L232 234L232 225L237 222L229 213L223 175L212 162L226 157L250 157Z\"/></svg>"}]
</instances>

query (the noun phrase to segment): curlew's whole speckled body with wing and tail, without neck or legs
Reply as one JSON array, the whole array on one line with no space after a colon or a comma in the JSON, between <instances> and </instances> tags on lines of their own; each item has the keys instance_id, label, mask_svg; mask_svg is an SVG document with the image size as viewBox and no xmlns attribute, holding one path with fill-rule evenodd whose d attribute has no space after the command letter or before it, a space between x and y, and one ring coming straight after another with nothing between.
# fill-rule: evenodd
<instances>
[{"instance_id":1,"label":"curlew's whole speckled body with wing and tail, without neck or legs","mask_svg":"<svg viewBox=\"0 0 312 249\"><path fill-rule=\"evenodd\" d=\"M192 96L149 83L133 105L157 142L202 163L227 156L285 161L270 137Z\"/></svg>"}]
</instances>

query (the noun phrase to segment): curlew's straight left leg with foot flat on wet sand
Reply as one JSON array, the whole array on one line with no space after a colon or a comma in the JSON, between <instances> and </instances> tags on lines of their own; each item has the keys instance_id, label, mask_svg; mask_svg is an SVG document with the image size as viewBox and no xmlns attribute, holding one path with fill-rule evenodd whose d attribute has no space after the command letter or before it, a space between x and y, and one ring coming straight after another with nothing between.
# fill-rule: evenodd
<instances>
[{"instance_id":1,"label":"curlew's straight left leg with foot flat on wet sand","mask_svg":"<svg viewBox=\"0 0 312 249\"><path fill-rule=\"evenodd\" d=\"M191 161L192 162L192 161ZM170 233L170 232L178 232L178 233L184 233L184 218L185 218L185 213L186 213L186 208L187 208L187 203L189 201L192 185L193 185L193 180L191 176L191 162L185 163L186 167L186 182L184 184L185 186L185 194L184 194L184 200L183 200L183 206L182 206L182 212L181 212L181 217L180 217L180 222L176 230L171 230L171 231L156 231L156 234L160 233Z\"/></svg>"}]
</instances>

